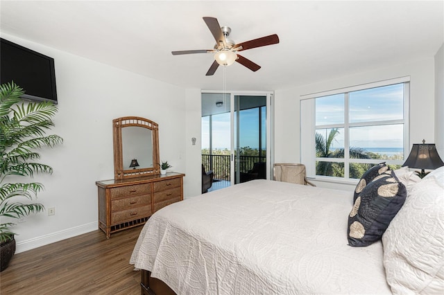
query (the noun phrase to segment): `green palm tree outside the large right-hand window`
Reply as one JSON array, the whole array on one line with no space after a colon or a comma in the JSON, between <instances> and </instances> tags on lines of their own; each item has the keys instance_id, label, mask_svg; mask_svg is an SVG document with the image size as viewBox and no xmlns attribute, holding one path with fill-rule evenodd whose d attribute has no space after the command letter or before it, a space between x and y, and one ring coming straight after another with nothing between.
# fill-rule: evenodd
<instances>
[{"instance_id":1,"label":"green palm tree outside the large right-hand window","mask_svg":"<svg viewBox=\"0 0 444 295\"><path fill-rule=\"evenodd\" d=\"M324 138L322 134L316 132L315 143L316 143L316 157L318 158L341 158L345 157L344 148L339 148L336 150L330 150L332 143L335 141L336 136L339 135L338 128L330 129L330 133L327 138ZM370 159L366 150L361 147L350 147L349 156L352 159ZM319 161L316 163L316 175L327 175L335 177L343 177L343 164ZM358 166L350 165L350 177L359 178L361 177L361 170Z\"/></svg>"}]
</instances>

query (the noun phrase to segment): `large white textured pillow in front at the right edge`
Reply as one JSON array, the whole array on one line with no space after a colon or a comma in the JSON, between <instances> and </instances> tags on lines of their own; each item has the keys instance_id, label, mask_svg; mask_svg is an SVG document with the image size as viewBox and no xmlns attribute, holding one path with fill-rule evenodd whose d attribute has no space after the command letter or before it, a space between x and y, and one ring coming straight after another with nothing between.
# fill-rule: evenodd
<instances>
[{"instance_id":1,"label":"large white textured pillow in front at the right edge","mask_svg":"<svg viewBox=\"0 0 444 295\"><path fill-rule=\"evenodd\" d=\"M411 188L382 243L394 294L444 294L444 190L435 177Z\"/></svg>"}]
</instances>

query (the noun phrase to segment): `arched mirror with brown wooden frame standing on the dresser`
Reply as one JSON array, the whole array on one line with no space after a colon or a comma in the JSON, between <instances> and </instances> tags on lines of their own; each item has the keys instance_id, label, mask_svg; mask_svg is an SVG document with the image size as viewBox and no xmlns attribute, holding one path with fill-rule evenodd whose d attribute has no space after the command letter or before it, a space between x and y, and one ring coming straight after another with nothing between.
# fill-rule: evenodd
<instances>
[{"instance_id":1,"label":"arched mirror with brown wooden frame standing on the dresser","mask_svg":"<svg viewBox=\"0 0 444 295\"><path fill-rule=\"evenodd\" d=\"M157 175L159 127L140 117L112 120L114 138L114 179Z\"/></svg>"}]
</instances>

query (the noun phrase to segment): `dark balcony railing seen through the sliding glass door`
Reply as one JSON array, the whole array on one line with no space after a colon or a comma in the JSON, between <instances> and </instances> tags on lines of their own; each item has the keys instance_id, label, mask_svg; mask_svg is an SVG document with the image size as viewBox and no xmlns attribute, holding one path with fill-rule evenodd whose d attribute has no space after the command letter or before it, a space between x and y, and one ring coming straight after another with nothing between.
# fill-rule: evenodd
<instances>
[{"instance_id":1,"label":"dark balcony railing seen through the sliding glass door","mask_svg":"<svg viewBox=\"0 0 444 295\"><path fill-rule=\"evenodd\" d=\"M236 156L237 157L237 156ZM259 156L240 156L239 158L240 172L247 173L253 169L255 163L265 162L266 157ZM219 154L202 154L202 163L205 170L214 172L214 179L230 181L230 156ZM237 161L234 161L237 163ZM236 169L235 167L234 169Z\"/></svg>"}]
</instances>

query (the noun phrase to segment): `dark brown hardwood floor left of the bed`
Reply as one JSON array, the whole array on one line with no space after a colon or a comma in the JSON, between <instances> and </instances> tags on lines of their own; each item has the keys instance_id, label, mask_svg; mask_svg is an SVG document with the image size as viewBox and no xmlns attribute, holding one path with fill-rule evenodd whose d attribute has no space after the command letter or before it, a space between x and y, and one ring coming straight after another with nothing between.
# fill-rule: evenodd
<instances>
[{"instance_id":1,"label":"dark brown hardwood floor left of the bed","mask_svg":"<svg viewBox=\"0 0 444 295\"><path fill-rule=\"evenodd\" d=\"M0 294L140 294L130 256L142 226L106 239L92 231L15 254L0 273Z\"/></svg>"}]
</instances>

